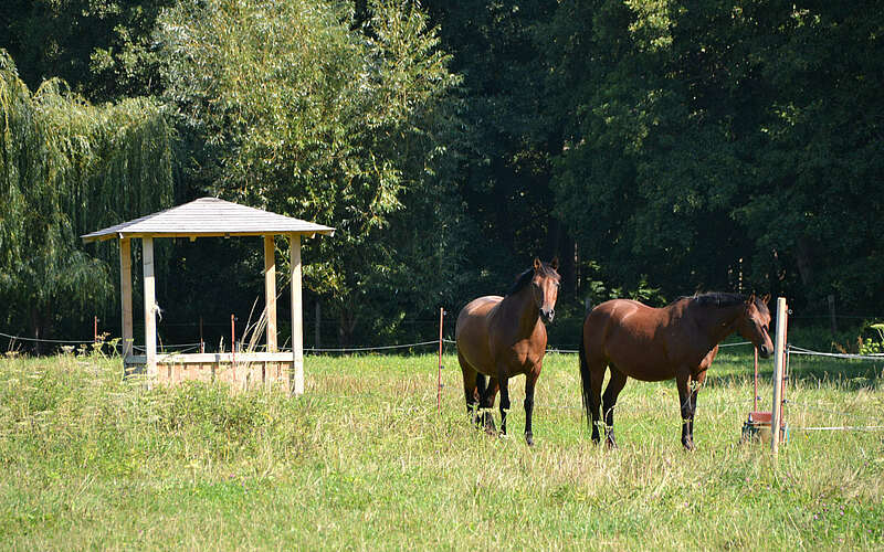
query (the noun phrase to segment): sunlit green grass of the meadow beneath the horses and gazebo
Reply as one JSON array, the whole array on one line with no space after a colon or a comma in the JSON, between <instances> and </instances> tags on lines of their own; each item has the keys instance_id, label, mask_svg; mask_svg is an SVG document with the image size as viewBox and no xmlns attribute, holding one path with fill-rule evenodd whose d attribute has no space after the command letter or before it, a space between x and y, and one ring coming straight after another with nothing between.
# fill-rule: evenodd
<instances>
[{"instance_id":1,"label":"sunlit green grass of the meadow beneath the horses and gazebo","mask_svg":"<svg viewBox=\"0 0 884 552\"><path fill-rule=\"evenodd\" d=\"M511 385L511 436L490 437L466 421L452 354L441 413L434 355L308 357L299 399L147 391L96 355L0 360L0 546L884 546L884 432L794 429L884 425L881 364L793 358L793 429L774 460L738 444L746 350L713 365L693 454L673 382L628 382L620 448L593 446L576 362L547 355L528 448L524 378ZM769 384L760 394L769 408Z\"/></svg>"}]
</instances>

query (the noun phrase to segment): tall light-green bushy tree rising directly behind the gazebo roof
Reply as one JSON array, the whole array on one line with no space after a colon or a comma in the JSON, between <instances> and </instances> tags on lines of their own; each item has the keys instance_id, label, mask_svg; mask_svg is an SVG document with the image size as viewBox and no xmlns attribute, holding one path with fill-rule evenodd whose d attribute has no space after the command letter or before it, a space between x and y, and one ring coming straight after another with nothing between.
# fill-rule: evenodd
<instances>
[{"instance_id":1,"label":"tall light-green bushy tree rising directly behind the gazebo roof","mask_svg":"<svg viewBox=\"0 0 884 552\"><path fill-rule=\"evenodd\" d=\"M185 0L158 33L212 191L338 229L305 244L322 250L306 253L306 282L333 299L345 340L391 270L391 216L439 182L457 82L417 2L367 8L359 24L343 2Z\"/></svg>"}]
</instances>

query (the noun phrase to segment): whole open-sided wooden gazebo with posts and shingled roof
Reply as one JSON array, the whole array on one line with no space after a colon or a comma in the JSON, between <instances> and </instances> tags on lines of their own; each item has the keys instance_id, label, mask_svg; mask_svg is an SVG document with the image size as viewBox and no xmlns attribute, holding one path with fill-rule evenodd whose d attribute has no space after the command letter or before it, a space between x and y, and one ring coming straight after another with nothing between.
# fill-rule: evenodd
<instances>
[{"instance_id":1,"label":"whole open-sided wooden gazebo with posts and shingled roof","mask_svg":"<svg viewBox=\"0 0 884 552\"><path fill-rule=\"evenodd\" d=\"M304 393L304 340L301 315L301 237L334 235L335 229L281 214L201 198L190 203L81 236L85 242L119 240L123 310L123 359L127 372L145 371L150 383L181 380L228 381L238 388L281 386ZM276 262L274 236L291 246L292 352L278 352L276 341ZM266 352L157 354L157 302L154 279L155 237L262 236ZM131 240L140 238L144 262L145 354L134 354L131 307Z\"/></svg>"}]
</instances>

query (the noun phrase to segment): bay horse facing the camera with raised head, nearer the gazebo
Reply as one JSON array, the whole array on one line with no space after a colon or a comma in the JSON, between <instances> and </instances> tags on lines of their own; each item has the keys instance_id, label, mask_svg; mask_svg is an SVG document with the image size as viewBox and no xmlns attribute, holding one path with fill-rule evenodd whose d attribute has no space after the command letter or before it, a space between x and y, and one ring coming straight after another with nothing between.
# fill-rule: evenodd
<instances>
[{"instance_id":1,"label":"bay horse facing the camera with raised head, nearer the gazebo","mask_svg":"<svg viewBox=\"0 0 884 552\"><path fill-rule=\"evenodd\" d=\"M494 433L488 408L501 390L501 433L506 435L509 410L508 380L525 374L525 440L534 445L532 412L534 388L546 353L546 327L556 314L559 291L558 259L549 264L534 259L534 266L516 279L506 297L490 295L470 301L460 315L455 329L457 360L463 372L467 414L475 423L484 422ZM488 376L487 383L485 376Z\"/></svg>"}]
</instances>

